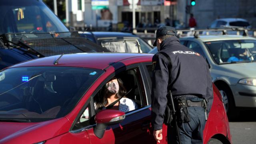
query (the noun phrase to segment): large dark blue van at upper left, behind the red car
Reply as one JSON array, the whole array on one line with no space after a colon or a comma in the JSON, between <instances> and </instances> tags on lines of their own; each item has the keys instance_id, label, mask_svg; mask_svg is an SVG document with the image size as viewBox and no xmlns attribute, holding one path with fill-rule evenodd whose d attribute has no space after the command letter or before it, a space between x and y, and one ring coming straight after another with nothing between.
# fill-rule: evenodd
<instances>
[{"instance_id":1,"label":"large dark blue van at upper left, behind the red car","mask_svg":"<svg viewBox=\"0 0 256 144\"><path fill-rule=\"evenodd\" d=\"M0 11L0 70L62 53L109 52L69 32L42 0L1 0Z\"/></svg>"}]
</instances>

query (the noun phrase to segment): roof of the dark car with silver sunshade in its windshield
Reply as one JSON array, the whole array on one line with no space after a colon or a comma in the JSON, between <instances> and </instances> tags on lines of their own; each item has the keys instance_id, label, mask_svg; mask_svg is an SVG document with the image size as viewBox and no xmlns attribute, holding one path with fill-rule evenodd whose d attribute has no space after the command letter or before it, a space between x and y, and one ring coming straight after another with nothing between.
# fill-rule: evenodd
<instances>
[{"instance_id":1,"label":"roof of the dark car with silver sunshade in its windshield","mask_svg":"<svg viewBox=\"0 0 256 144\"><path fill-rule=\"evenodd\" d=\"M95 37L103 38L103 37L138 37L132 33L128 32L92 32Z\"/></svg>"}]
</instances>

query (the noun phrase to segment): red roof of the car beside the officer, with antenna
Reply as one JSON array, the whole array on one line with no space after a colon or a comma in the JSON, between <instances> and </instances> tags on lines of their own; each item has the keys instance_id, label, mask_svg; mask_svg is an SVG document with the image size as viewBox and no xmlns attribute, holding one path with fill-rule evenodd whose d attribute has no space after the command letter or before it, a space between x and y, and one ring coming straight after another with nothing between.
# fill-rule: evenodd
<instances>
[{"instance_id":1,"label":"red roof of the car beside the officer, with antenna","mask_svg":"<svg viewBox=\"0 0 256 144\"><path fill-rule=\"evenodd\" d=\"M96 68L104 70L111 64L126 60L129 58L140 57L143 60L144 56L153 56L152 54L140 54L140 53L78 53L78 54L64 54L49 56L44 58L38 58L27 62L22 62L11 66L24 67L24 66L74 66L74 67L86 67ZM54 65L56 60L58 64ZM150 58L151 60L152 58Z\"/></svg>"}]
</instances>

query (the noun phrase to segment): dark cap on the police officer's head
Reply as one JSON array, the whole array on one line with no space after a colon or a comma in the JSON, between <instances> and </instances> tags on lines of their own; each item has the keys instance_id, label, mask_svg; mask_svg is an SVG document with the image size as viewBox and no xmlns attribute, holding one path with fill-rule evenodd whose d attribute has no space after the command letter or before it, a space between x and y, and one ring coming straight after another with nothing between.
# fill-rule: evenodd
<instances>
[{"instance_id":1,"label":"dark cap on the police officer's head","mask_svg":"<svg viewBox=\"0 0 256 144\"><path fill-rule=\"evenodd\" d=\"M169 31L173 31L173 32L169 32ZM164 36L164 35L177 36L177 31L175 30L175 28L171 26L161 26L160 28L158 28L158 30L156 30L156 40L159 36ZM153 46L156 46L156 40Z\"/></svg>"}]
</instances>

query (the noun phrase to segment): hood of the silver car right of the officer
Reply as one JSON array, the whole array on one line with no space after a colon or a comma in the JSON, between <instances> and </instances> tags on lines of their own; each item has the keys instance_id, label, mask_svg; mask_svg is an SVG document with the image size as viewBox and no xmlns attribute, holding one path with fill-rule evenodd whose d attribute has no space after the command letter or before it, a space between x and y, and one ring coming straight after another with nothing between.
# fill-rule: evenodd
<instances>
[{"instance_id":1,"label":"hood of the silver car right of the officer","mask_svg":"<svg viewBox=\"0 0 256 144\"><path fill-rule=\"evenodd\" d=\"M236 78L256 78L256 62L219 65L223 73ZM217 68L218 69L218 68Z\"/></svg>"}]
</instances>

